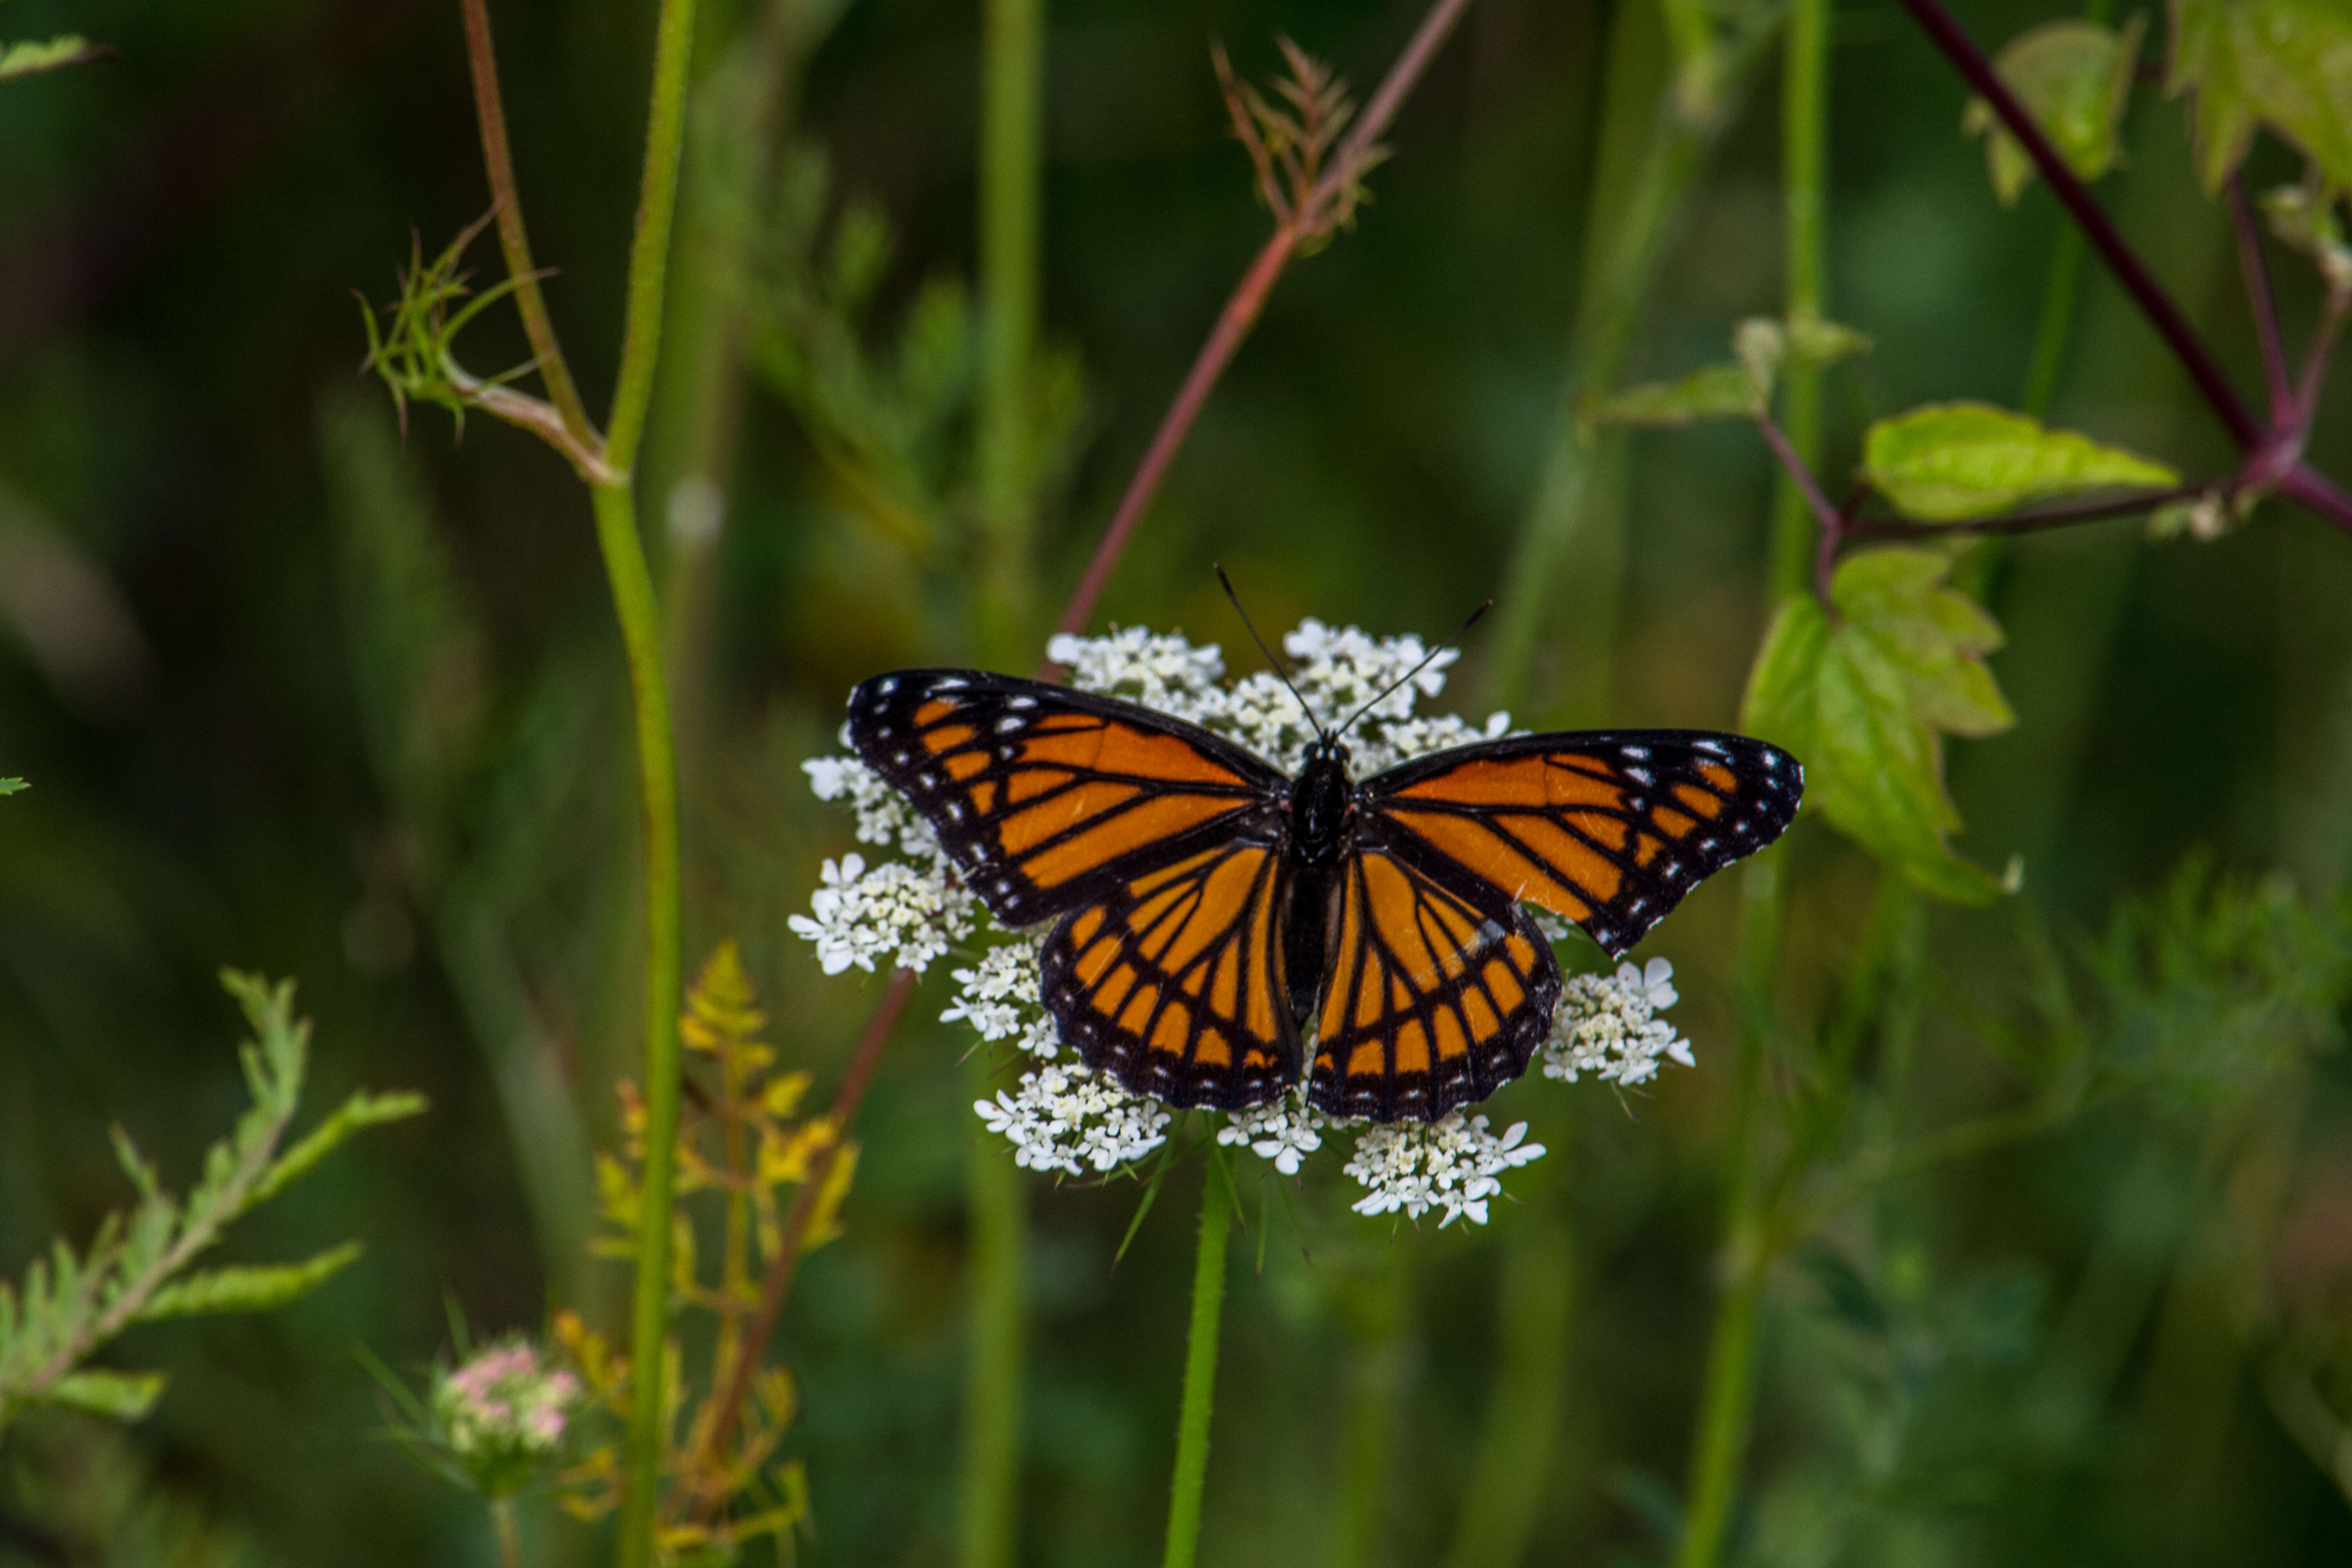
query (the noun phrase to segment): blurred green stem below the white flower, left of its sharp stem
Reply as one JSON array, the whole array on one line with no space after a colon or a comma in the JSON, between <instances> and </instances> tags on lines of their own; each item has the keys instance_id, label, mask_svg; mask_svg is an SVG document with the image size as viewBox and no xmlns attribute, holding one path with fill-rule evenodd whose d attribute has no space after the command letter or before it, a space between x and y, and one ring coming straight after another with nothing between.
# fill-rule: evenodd
<instances>
[{"instance_id":1,"label":"blurred green stem below the white flower, left of its sharp stem","mask_svg":"<svg viewBox=\"0 0 2352 1568\"><path fill-rule=\"evenodd\" d=\"M993 1072L971 1053L974 1093L985 1098ZM964 1154L964 1201L971 1213L969 1347L964 1352L964 1474L957 1561L964 1568L1011 1568L1021 1495L1021 1373L1028 1342L1028 1192L1023 1171L1002 1147L974 1138Z\"/></svg>"}]
</instances>

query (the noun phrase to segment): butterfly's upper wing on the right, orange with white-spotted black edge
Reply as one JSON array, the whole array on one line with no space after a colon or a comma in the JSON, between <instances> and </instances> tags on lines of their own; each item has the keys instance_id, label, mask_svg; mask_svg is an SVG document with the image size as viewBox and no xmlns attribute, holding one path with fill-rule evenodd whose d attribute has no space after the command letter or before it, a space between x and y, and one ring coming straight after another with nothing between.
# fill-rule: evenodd
<instances>
[{"instance_id":1,"label":"butterfly's upper wing on the right, orange with white-spotted black edge","mask_svg":"<svg viewBox=\"0 0 2352 1568\"><path fill-rule=\"evenodd\" d=\"M1611 957L1797 816L1776 745L1686 729L1512 736L1362 788L1383 842L1437 882L1576 922Z\"/></svg>"}]
</instances>

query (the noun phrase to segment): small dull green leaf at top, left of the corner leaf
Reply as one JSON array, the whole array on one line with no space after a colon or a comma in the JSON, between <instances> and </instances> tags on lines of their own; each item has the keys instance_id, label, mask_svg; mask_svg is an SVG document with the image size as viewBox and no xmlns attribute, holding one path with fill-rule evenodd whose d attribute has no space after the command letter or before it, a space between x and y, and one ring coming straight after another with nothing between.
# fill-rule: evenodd
<instances>
[{"instance_id":1,"label":"small dull green leaf at top, left of the corner leaf","mask_svg":"<svg viewBox=\"0 0 2352 1568\"><path fill-rule=\"evenodd\" d=\"M2124 160L2117 127L2131 101L2147 19L2133 14L2122 33L2093 21L2051 21L2018 35L1994 68L2025 113L2082 179L2098 179ZM2034 179L2034 160L1992 113L1985 99L1969 99L1959 127L1985 139L1985 165L2002 205L2016 205Z\"/></svg>"}]
</instances>

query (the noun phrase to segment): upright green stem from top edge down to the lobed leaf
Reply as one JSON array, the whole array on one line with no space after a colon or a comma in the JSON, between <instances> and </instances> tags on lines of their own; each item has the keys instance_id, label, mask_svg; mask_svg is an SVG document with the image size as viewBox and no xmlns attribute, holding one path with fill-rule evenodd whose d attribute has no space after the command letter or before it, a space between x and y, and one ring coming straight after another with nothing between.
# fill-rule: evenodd
<instances>
[{"instance_id":1,"label":"upright green stem from top edge down to the lobed leaf","mask_svg":"<svg viewBox=\"0 0 2352 1568\"><path fill-rule=\"evenodd\" d=\"M1792 0L1780 66L1780 207L1788 223L1788 299L1792 322L1823 313L1823 252L1830 183L1830 0ZM1792 364L1780 378L1780 428L1804 465L1820 473L1820 369ZM1804 592L1813 581L1813 512L1780 475L1771 517L1771 597Z\"/></svg>"}]
</instances>

